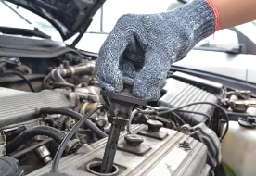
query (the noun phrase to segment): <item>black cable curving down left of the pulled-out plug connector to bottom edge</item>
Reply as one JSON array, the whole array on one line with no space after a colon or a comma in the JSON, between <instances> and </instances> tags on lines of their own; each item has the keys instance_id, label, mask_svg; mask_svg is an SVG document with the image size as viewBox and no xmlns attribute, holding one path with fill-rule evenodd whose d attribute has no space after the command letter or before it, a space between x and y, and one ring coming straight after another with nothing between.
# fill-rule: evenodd
<instances>
[{"instance_id":1,"label":"black cable curving down left of the pulled-out plug connector to bottom edge","mask_svg":"<svg viewBox=\"0 0 256 176\"><path fill-rule=\"evenodd\" d=\"M73 128L70 130L70 132L65 136L65 138L63 139L63 141L61 142L61 144L58 146L58 151L56 152L56 155L54 157L53 163L52 163L52 168L51 171L52 173L54 172L58 172L58 163L59 163L59 159L62 156L66 145L68 144L68 142L70 141L71 137L74 135L75 132L78 131L78 129L80 128L80 126L83 124L84 121L86 121L88 118L90 118L94 113L96 113L97 110L99 110L100 108L104 107L103 105L99 105L96 108L94 108L93 110L90 110L88 113L86 113L82 119L80 119L74 126Z\"/></svg>"}]
</instances>

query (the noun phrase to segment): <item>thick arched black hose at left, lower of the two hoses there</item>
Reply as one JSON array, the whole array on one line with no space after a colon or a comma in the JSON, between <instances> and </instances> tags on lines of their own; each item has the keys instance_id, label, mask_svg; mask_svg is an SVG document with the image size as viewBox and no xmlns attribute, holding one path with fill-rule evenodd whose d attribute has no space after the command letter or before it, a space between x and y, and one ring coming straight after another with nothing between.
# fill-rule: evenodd
<instances>
[{"instance_id":1,"label":"thick arched black hose at left, lower of the two hoses there","mask_svg":"<svg viewBox=\"0 0 256 176\"><path fill-rule=\"evenodd\" d=\"M14 152L20 145L23 145L27 140L32 139L32 137L36 135L45 135L53 138L58 144L65 137L65 132L61 132L55 128L47 127L47 126L35 126L29 128L21 133L7 145L7 154Z\"/></svg>"}]
</instances>

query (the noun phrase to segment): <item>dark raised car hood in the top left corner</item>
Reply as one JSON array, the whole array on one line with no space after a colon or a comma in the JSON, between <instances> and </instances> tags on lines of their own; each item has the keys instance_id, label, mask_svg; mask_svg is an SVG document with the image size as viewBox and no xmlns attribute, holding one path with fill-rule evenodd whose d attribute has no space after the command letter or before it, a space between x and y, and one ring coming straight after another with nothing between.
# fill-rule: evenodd
<instances>
[{"instance_id":1,"label":"dark raised car hood in the top left corner","mask_svg":"<svg viewBox=\"0 0 256 176\"><path fill-rule=\"evenodd\" d=\"M6 0L47 19L65 41L87 30L105 0Z\"/></svg>"}]
</instances>

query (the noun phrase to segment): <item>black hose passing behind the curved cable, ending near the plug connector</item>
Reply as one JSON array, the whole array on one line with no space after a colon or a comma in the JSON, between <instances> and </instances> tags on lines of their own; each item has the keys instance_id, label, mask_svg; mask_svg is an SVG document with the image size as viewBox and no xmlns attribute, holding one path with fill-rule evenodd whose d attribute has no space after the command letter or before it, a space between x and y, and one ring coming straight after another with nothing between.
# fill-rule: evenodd
<instances>
[{"instance_id":1,"label":"black hose passing behind the curved cable, ending near the plug connector","mask_svg":"<svg viewBox=\"0 0 256 176\"><path fill-rule=\"evenodd\" d=\"M62 115L66 115L66 116L70 116L73 119L76 120L80 120L83 118L83 116L75 111L72 111L70 109L64 109L64 108L40 108L39 109L40 113L44 113L44 114L62 114ZM99 139L108 137L108 135L105 132L102 132L95 123L93 123L90 120L85 120L84 124L87 128L89 128L91 131L96 133L96 136Z\"/></svg>"}]
</instances>

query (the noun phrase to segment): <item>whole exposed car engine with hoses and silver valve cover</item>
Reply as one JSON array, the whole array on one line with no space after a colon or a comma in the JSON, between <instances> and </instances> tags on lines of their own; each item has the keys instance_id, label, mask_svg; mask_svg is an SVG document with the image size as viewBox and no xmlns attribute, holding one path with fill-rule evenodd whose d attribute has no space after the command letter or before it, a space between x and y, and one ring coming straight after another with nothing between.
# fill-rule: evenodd
<instances>
[{"instance_id":1,"label":"whole exposed car engine with hoses and silver valve cover","mask_svg":"<svg viewBox=\"0 0 256 176\"><path fill-rule=\"evenodd\" d=\"M129 96L102 92L96 55L56 42L13 43L0 51L4 175L220 175L229 107L221 83L170 72L158 101L131 105ZM115 98L130 106L127 119L113 119Z\"/></svg>"}]
</instances>

